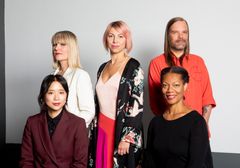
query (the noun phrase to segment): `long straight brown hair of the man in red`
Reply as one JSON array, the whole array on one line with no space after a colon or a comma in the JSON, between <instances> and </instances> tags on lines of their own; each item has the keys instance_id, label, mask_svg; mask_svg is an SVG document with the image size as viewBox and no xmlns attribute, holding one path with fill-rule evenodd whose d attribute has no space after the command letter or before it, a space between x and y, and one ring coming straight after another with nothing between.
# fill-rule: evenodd
<instances>
[{"instance_id":1,"label":"long straight brown hair of the man in red","mask_svg":"<svg viewBox=\"0 0 240 168\"><path fill-rule=\"evenodd\" d=\"M166 26L166 30L165 30L165 40L164 40L164 55L166 58L166 63L168 64L168 66L174 66L175 62L173 61L173 57L172 57L172 52L170 49L170 41L169 41L169 31L171 26L178 21L183 21L186 23L187 25L187 29L188 29L188 39L187 39L187 46L184 49L184 53L183 55L180 57L180 64L182 65L183 62L183 58L189 54L190 51L190 44L189 44L189 27L188 27L188 23L185 19L181 18L181 17L174 17L171 20L169 20L167 26Z\"/></svg>"}]
</instances>

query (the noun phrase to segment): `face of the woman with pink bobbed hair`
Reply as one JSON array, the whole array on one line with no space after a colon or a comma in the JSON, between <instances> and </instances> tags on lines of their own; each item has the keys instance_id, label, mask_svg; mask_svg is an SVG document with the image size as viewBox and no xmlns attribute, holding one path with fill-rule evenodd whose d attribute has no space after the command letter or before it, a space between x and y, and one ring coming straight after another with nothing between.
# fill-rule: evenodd
<instances>
[{"instance_id":1,"label":"face of the woman with pink bobbed hair","mask_svg":"<svg viewBox=\"0 0 240 168\"><path fill-rule=\"evenodd\" d=\"M107 44L112 54L123 52L126 47L126 38L114 28L111 28L107 36Z\"/></svg>"}]
</instances>

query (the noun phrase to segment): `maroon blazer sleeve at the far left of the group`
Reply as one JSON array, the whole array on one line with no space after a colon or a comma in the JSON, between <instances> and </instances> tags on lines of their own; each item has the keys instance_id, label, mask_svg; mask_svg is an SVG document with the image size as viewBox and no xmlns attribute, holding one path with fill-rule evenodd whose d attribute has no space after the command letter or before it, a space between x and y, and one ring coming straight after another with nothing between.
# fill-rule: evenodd
<instances>
[{"instance_id":1,"label":"maroon blazer sleeve at the far left of the group","mask_svg":"<svg viewBox=\"0 0 240 168\"><path fill-rule=\"evenodd\" d=\"M21 168L34 168L32 132L31 132L31 126L30 126L29 119L26 122L24 132L23 132L20 167Z\"/></svg>"}]
</instances>

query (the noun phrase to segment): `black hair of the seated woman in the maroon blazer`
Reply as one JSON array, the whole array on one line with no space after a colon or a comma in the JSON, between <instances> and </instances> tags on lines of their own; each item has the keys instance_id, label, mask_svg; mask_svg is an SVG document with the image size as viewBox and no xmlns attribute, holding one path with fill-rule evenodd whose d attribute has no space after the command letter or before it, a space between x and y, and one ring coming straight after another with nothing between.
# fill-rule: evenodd
<instances>
[{"instance_id":1,"label":"black hair of the seated woman in the maroon blazer","mask_svg":"<svg viewBox=\"0 0 240 168\"><path fill-rule=\"evenodd\" d=\"M65 78L61 75L48 75L43 79L41 87L40 87L40 92L38 95L38 104L41 108L45 104L45 100L44 100L45 95L48 92L49 87L51 86L51 84L54 81L57 81L62 85L63 89L67 93L67 98L68 98L69 89L68 89L68 84L67 84L67 81L65 80ZM66 98L66 100L67 100L67 98Z\"/></svg>"}]
</instances>

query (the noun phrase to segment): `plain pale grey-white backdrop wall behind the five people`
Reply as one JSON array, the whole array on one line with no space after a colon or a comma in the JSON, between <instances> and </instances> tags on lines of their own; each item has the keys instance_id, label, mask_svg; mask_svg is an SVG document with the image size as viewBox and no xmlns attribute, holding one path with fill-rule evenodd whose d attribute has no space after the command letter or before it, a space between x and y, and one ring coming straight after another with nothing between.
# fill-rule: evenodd
<instances>
[{"instance_id":1,"label":"plain pale grey-white backdrop wall behind the five people","mask_svg":"<svg viewBox=\"0 0 240 168\"><path fill-rule=\"evenodd\" d=\"M167 21L181 16L189 23L191 52L206 62L217 102L210 119L212 151L240 153L239 6L238 0L5 1L6 142L20 143L27 117L38 113L40 83L52 72L51 36L60 30L78 36L81 62L94 85L99 65L109 59L102 35L115 20L131 28L130 55L145 71L146 131L152 118L148 65L163 52Z\"/></svg>"}]
</instances>

